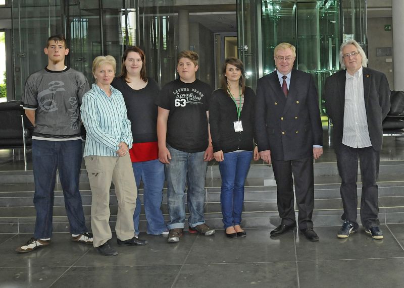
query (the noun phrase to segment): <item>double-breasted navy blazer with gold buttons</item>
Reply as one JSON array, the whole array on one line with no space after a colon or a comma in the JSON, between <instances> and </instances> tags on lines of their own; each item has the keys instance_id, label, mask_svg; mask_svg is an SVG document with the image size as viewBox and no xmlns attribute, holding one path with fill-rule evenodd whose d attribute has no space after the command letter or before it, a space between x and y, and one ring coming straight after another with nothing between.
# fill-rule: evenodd
<instances>
[{"instance_id":1,"label":"double-breasted navy blazer with gold buttons","mask_svg":"<svg viewBox=\"0 0 404 288\"><path fill-rule=\"evenodd\" d=\"M276 71L258 80L256 98L258 150L271 150L275 160L296 160L313 155L323 145L319 99L313 77L292 70L285 97Z\"/></svg>"}]
</instances>

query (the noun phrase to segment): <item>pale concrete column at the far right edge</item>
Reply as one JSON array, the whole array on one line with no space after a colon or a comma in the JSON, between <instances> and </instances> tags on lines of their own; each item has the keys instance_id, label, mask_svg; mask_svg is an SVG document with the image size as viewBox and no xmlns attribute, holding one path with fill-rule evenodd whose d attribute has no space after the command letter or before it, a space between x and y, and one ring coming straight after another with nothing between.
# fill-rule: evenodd
<instances>
[{"instance_id":1,"label":"pale concrete column at the far right edge","mask_svg":"<svg viewBox=\"0 0 404 288\"><path fill-rule=\"evenodd\" d=\"M394 90L404 91L404 1L392 0L393 10L393 64L394 64ZM390 87L392 89L393 87Z\"/></svg>"}]
</instances>

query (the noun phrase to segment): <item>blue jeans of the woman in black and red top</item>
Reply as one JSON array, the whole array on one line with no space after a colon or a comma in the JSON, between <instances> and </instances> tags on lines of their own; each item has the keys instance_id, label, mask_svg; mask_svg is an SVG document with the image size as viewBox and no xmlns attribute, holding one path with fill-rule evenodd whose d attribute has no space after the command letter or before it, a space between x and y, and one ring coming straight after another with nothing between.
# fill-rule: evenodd
<instances>
[{"instance_id":1,"label":"blue jeans of the woman in black and red top","mask_svg":"<svg viewBox=\"0 0 404 288\"><path fill-rule=\"evenodd\" d=\"M160 235L167 230L163 213L160 209L165 180L164 164L159 159L156 159L144 162L132 162L132 167L135 174L137 191L139 191L140 181L143 181L144 213L147 220L146 232L151 235ZM138 193L136 210L133 214L135 235L139 234L140 205Z\"/></svg>"}]
</instances>

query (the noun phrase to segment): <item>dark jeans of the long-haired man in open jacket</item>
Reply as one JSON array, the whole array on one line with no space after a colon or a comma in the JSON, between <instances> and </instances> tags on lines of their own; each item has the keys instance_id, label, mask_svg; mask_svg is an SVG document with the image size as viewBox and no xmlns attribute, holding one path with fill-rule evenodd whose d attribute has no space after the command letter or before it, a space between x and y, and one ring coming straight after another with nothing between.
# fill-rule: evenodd
<instances>
[{"instance_id":1,"label":"dark jeans of the long-haired man in open jacket","mask_svg":"<svg viewBox=\"0 0 404 288\"><path fill-rule=\"evenodd\" d=\"M341 176L341 198L344 207L342 220L349 220L358 228L358 159L361 165L362 200L361 221L364 227L379 225L379 190L376 184L379 176L380 152L372 147L352 148L341 144L337 152L337 164Z\"/></svg>"}]
</instances>

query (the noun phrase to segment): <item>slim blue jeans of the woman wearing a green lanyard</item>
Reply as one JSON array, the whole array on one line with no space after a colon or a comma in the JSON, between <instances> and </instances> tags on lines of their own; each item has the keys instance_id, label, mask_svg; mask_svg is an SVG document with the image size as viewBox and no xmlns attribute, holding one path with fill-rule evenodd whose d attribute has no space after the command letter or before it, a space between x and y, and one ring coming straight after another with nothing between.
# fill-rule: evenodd
<instances>
[{"instance_id":1,"label":"slim blue jeans of the woman wearing a green lanyard","mask_svg":"<svg viewBox=\"0 0 404 288\"><path fill-rule=\"evenodd\" d=\"M220 176L222 177L220 202L225 229L241 223L244 182L251 159L252 151L242 151L224 153L224 160L219 162Z\"/></svg>"}]
</instances>

